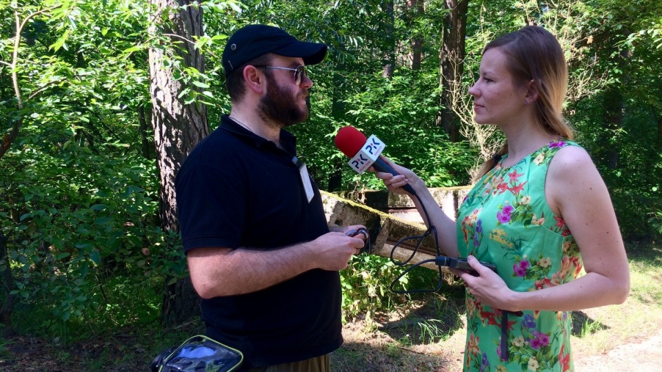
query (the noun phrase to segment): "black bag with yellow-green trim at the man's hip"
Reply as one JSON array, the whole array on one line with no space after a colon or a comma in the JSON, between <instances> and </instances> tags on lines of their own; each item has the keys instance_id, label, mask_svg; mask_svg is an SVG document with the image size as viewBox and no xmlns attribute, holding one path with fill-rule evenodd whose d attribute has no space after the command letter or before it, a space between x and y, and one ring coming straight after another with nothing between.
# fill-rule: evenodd
<instances>
[{"instance_id":1,"label":"black bag with yellow-green trim at the man's hip","mask_svg":"<svg viewBox=\"0 0 662 372\"><path fill-rule=\"evenodd\" d=\"M152 372L230 372L243 363L243 354L204 335L194 335L179 347L152 360Z\"/></svg>"}]
</instances>

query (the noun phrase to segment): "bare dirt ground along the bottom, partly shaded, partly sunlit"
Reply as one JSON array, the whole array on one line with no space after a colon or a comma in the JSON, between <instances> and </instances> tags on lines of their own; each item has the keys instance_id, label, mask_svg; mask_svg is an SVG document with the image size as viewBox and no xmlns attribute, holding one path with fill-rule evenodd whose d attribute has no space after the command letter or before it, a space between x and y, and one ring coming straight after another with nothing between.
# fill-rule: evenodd
<instances>
[{"instance_id":1,"label":"bare dirt ground along the bottom, partly shaded, partly sunlit","mask_svg":"<svg viewBox=\"0 0 662 372\"><path fill-rule=\"evenodd\" d=\"M361 320L345 324L345 344L332 353L332 371L462 371L466 334L463 316L441 320L439 330L450 335L445 340L428 338L421 342L425 337L421 337L421 327L415 324L423 319L396 317L380 324L379 331L367 331ZM96 338L67 348L28 337L3 342L2 372L149 371L154 357L146 345L149 340L130 334ZM609 340L609 350L603 352L583 347L583 340L572 342L576 372L662 372L662 327L648 333L633 329L628 338Z\"/></svg>"}]
</instances>

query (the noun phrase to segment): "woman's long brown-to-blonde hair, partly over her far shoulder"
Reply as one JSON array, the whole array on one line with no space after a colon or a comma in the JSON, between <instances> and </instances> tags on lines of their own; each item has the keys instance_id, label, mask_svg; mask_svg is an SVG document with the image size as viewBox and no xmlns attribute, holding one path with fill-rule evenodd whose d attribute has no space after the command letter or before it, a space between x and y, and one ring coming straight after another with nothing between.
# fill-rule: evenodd
<instances>
[{"instance_id":1,"label":"woman's long brown-to-blonde hair, partly over her far shoulder","mask_svg":"<svg viewBox=\"0 0 662 372\"><path fill-rule=\"evenodd\" d=\"M568 66L556 37L544 28L528 25L494 39L485 45L483 54L492 48L500 48L507 57L508 71L515 84L534 82L538 91L538 99L534 101L536 123L540 129L563 138L574 138L572 127L563 117ZM494 158L483 163L474 180L488 173L507 153L508 141L504 141Z\"/></svg>"}]
</instances>

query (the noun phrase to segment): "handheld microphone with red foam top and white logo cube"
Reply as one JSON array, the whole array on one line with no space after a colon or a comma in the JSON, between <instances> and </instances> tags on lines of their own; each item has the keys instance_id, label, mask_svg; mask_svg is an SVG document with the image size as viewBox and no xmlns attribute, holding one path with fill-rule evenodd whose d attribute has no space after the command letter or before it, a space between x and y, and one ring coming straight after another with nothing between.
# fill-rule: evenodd
<instances>
[{"instance_id":1,"label":"handheld microphone with red foam top and white logo cube","mask_svg":"<svg viewBox=\"0 0 662 372\"><path fill-rule=\"evenodd\" d=\"M338 131L335 143L336 147L350 158L348 162L350 167L359 174L363 174L371 165L379 172L390 173L393 176L399 174L379 158L379 154L386 145L374 134L366 139L365 135L359 132L357 128L348 125ZM403 189L412 195L416 195L414 188L409 184L405 185Z\"/></svg>"}]
</instances>

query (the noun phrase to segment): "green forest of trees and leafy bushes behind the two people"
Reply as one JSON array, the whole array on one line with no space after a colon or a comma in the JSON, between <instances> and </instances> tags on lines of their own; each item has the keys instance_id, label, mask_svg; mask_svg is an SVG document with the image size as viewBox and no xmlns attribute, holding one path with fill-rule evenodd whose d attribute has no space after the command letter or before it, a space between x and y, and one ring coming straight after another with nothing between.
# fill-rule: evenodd
<instances>
[{"instance_id":1,"label":"green forest of trees and leafy bushes behind the two people","mask_svg":"<svg viewBox=\"0 0 662 372\"><path fill-rule=\"evenodd\" d=\"M0 0L0 20L0 352L10 335L71 344L197 313L172 179L228 112L220 57L247 23L330 47L308 69L311 118L291 128L330 192L381 188L334 147L346 125L430 187L468 185L503 139L472 121L483 46L547 28L570 68L565 115L623 236L662 235L658 1ZM399 273L370 256L344 271L345 319L411 300L388 291Z\"/></svg>"}]
</instances>

